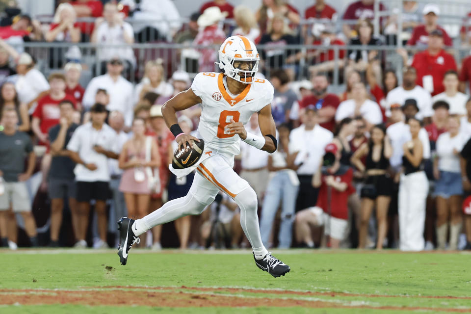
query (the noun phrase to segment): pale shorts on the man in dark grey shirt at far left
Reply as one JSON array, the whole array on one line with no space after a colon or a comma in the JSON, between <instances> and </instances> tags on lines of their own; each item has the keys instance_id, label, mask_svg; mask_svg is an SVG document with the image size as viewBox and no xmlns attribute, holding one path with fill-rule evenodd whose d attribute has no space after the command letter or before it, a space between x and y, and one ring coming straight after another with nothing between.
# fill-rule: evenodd
<instances>
[{"instance_id":1,"label":"pale shorts on the man in dark grey shirt at far left","mask_svg":"<svg viewBox=\"0 0 471 314\"><path fill-rule=\"evenodd\" d=\"M7 210L11 207L14 212L30 211L28 190L25 182L3 182L5 191L0 195L0 210Z\"/></svg>"}]
</instances>

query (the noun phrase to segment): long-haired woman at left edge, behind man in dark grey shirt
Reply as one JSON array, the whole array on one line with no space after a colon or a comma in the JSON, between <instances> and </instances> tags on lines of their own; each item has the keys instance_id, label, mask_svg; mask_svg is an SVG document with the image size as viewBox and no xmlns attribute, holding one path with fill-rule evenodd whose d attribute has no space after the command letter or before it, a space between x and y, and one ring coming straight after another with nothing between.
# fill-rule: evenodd
<instances>
[{"instance_id":1,"label":"long-haired woman at left edge, behind man in dark grey shirt","mask_svg":"<svg viewBox=\"0 0 471 314\"><path fill-rule=\"evenodd\" d=\"M20 103L15 84L5 82L0 87L0 120L1 114L5 108L14 108L18 115L18 131L29 131L28 106Z\"/></svg>"}]
</instances>

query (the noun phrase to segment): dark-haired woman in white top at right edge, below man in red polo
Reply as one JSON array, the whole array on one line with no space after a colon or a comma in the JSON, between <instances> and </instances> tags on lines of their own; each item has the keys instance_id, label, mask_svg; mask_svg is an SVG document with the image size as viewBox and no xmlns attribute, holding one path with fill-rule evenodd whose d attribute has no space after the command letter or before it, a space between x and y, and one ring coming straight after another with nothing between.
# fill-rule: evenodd
<instances>
[{"instance_id":1,"label":"dark-haired woman in white top at right edge, below man in red polo","mask_svg":"<svg viewBox=\"0 0 471 314\"><path fill-rule=\"evenodd\" d=\"M443 85L445 91L432 98L432 104L439 100L443 100L450 105L448 110L449 114L466 114L466 102L468 96L458 91L460 80L458 79L458 72L455 70L446 71L445 77L443 78Z\"/></svg>"}]
</instances>

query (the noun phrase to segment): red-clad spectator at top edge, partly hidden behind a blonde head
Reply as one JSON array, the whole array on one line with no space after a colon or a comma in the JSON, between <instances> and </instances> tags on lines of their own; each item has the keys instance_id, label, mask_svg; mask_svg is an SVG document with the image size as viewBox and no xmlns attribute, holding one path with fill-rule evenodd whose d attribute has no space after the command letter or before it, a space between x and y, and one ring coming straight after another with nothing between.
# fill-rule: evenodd
<instances>
[{"instance_id":1,"label":"red-clad spectator at top edge, partly hidden behind a blonde head","mask_svg":"<svg viewBox=\"0 0 471 314\"><path fill-rule=\"evenodd\" d=\"M286 17L289 27L295 27L301 21L298 10L289 5L286 0L263 0L262 6L255 13L261 33L265 33L268 22L277 14Z\"/></svg>"}]
</instances>

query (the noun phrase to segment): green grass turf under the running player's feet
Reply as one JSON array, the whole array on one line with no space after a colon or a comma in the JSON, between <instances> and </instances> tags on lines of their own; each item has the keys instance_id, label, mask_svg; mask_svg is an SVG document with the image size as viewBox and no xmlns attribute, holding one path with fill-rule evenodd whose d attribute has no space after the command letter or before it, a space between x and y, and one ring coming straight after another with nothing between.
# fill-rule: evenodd
<instances>
[{"instance_id":1,"label":"green grass turf under the running player's feet","mask_svg":"<svg viewBox=\"0 0 471 314\"><path fill-rule=\"evenodd\" d=\"M293 297L371 307L404 307L382 311L405 313L411 307L471 311L471 299L439 299L419 296L471 296L470 255L466 253L376 253L369 251L280 251L274 255L291 266L285 277L274 279L259 270L249 251L189 252L131 251L128 265L121 266L115 250L85 251L0 251L0 288L81 289L105 286L145 287L237 287L347 292L362 295L300 296L240 292L248 297ZM112 270L106 266L113 267ZM34 282L33 282L34 279ZM227 291L217 291L227 294ZM388 297L389 296L389 297ZM397 296L397 297L390 297ZM1 300L1 299L0 299ZM1 301L0 301L1 304ZM1 313L50 313L67 305L0 307ZM31 308L31 309L33 309ZM77 308L75 306L74 308ZM169 308L142 308L141 313L187 313ZM61 310L62 309L62 310ZM84 307L90 313L105 313L104 307ZM111 311L111 308L109 308ZM181 311L182 310L182 311ZM203 313L203 311L188 313ZM207 309L208 310L208 309ZM221 310L221 309L219 309ZM232 310L214 313L235 313ZM270 313L274 313L271 309ZM284 312L287 309L280 309ZM360 309L318 309L316 313L358 313ZM22 312L23 311L23 312ZM39 311L39 312L38 312ZM324 311L324 312L322 312ZM370 312L373 311L373 312ZM72 311L75 312L75 311ZM71 312L71 313L72 313ZM76 313L79 313L76 312ZM207 312L206 312L207 313ZM248 313L268 313L250 309ZM276 312L275 312L276 313ZM313 313L312 309L292 308L284 313ZM361 309L361 313L375 313Z\"/></svg>"}]
</instances>

